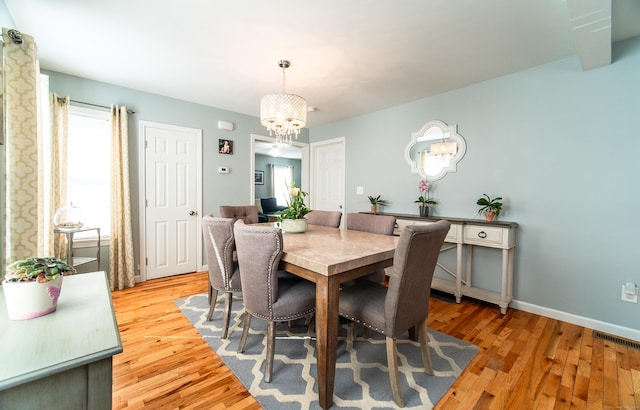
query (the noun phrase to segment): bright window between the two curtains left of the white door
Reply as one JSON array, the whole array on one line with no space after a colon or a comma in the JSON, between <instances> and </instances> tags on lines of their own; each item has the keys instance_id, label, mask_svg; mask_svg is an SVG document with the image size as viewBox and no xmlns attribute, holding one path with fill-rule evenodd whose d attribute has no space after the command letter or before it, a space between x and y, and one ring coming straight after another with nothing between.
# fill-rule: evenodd
<instances>
[{"instance_id":1,"label":"bright window between the two curtains left of the white door","mask_svg":"<svg viewBox=\"0 0 640 410\"><path fill-rule=\"evenodd\" d=\"M109 237L111 221L111 114L69 107L67 202L84 213L85 226ZM84 234L84 235L83 235ZM76 234L78 239L95 232Z\"/></svg>"}]
</instances>

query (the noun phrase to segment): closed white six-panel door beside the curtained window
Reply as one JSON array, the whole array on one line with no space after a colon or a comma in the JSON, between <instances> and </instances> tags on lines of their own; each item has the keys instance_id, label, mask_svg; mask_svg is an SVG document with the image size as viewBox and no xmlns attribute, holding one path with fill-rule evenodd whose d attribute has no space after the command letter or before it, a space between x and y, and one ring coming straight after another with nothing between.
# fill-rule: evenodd
<instances>
[{"instance_id":1,"label":"closed white six-panel door beside the curtained window","mask_svg":"<svg viewBox=\"0 0 640 410\"><path fill-rule=\"evenodd\" d=\"M146 279L196 272L202 131L156 123L143 130Z\"/></svg>"}]
</instances>

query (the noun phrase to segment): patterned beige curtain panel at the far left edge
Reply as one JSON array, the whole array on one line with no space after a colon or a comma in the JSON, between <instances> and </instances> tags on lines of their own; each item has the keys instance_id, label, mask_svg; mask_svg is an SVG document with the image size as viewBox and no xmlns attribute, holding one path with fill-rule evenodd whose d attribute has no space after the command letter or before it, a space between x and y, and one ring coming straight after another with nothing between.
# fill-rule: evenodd
<instances>
[{"instance_id":1,"label":"patterned beige curtain panel at the far left edge","mask_svg":"<svg viewBox=\"0 0 640 410\"><path fill-rule=\"evenodd\" d=\"M39 172L42 139L38 126L38 50L31 36L21 34L21 41L14 41L15 33L2 29L6 144L3 266L38 256L43 249L42 236L38 234L38 221L43 215L39 201L43 183Z\"/></svg>"}]
</instances>

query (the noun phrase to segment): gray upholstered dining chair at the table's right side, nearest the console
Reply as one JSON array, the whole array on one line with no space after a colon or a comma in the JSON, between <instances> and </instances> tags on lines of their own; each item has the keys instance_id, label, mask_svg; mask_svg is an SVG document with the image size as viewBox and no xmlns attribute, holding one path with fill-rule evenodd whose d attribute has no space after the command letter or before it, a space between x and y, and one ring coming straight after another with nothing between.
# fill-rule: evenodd
<instances>
[{"instance_id":1,"label":"gray upholstered dining chair at the table's right side, nearest the console","mask_svg":"<svg viewBox=\"0 0 640 410\"><path fill-rule=\"evenodd\" d=\"M425 372L433 374L427 335L431 281L449 221L407 226L400 235L389 286L363 281L340 292L340 316L386 337L387 365L393 400L404 406L398 376L396 339L418 332ZM354 327L349 332L354 337Z\"/></svg>"}]
</instances>

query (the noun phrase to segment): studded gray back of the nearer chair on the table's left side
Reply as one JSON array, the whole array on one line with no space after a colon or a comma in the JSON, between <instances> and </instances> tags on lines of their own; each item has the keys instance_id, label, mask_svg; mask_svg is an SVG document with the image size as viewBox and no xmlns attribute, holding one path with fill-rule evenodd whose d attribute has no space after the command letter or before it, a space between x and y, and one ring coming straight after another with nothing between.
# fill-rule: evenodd
<instances>
[{"instance_id":1,"label":"studded gray back of the nearer chair on the table's left side","mask_svg":"<svg viewBox=\"0 0 640 410\"><path fill-rule=\"evenodd\" d=\"M272 226L234 224L245 309L264 320L273 317L278 300L278 264L282 257L282 230Z\"/></svg>"}]
</instances>

